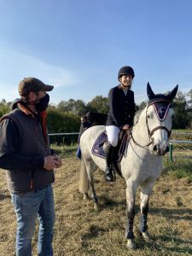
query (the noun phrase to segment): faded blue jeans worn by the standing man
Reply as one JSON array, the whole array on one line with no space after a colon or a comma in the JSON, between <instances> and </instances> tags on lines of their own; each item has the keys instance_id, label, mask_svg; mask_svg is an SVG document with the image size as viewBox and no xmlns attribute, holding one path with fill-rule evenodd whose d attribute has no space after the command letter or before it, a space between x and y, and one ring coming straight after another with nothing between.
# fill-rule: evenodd
<instances>
[{"instance_id":1,"label":"faded blue jeans worn by the standing man","mask_svg":"<svg viewBox=\"0 0 192 256\"><path fill-rule=\"evenodd\" d=\"M53 255L55 203L52 186L22 195L11 194L17 218L16 255L31 256L36 219L39 221L38 255Z\"/></svg>"}]
</instances>

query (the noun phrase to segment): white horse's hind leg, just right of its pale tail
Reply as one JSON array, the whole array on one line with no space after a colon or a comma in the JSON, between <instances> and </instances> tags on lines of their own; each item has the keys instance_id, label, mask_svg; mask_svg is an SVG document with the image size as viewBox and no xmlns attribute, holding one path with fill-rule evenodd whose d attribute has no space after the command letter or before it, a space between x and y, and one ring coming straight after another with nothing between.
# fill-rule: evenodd
<instances>
[{"instance_id":1,"label":"white horse's hind leg, just right of its pale tail","mask_svg":"<svg viewBox=\"0 0 192 256\"><path fill-rule=\"evenodd\" d=\"M89 189L90 189L90 193L92 195L92 199L94 202L94 209L96 211L98 211L98 199L96 197L96 190L94 188L94 180L93 180L93 173L96 171L97 167L93 160L85 161L85 165L86 165L86 169L87 169Z\"/></svg>"}]
</instances>

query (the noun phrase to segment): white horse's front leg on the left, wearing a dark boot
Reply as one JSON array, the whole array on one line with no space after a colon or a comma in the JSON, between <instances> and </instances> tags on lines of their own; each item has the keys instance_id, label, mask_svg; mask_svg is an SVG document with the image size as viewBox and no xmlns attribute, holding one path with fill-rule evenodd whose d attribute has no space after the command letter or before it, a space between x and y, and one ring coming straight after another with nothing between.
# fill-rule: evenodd
<instances>
[{"instance_id":1,"label":"white horse's front leg on the left, wearing a dark boot","mask_svg":"<svg viewBox=\"0 0 192 256\"><path fill-rule=\"evenodd\" d=\"M132 181L126 182L126 201L127 201L127 225L126 225L126 238L127 247L130 249L135 248L134 234L133 234L133 221L135 218L135 198L136 198L137 185Z\"/></svg>"}]
</instances>

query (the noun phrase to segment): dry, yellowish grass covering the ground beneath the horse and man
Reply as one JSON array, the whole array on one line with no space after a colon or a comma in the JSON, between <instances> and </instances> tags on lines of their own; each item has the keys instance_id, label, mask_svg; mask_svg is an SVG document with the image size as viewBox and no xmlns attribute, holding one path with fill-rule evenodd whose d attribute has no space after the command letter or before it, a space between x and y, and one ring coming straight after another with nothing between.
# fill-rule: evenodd
<instances>
[{"instance_id":1,"label":"dry, yellowish grass covering the ground beneath the horse and man","mask_svg":"<svg viewBox=\"0 0 192 256\"><path fill-rule=\"evenodd\" d=\"M125 240L125 182L118 177L108 184L97 171L96 191L100 211L92 201L83 201L79 194L79 160L65 157L64 165L55 172L55 255L192 255L192 183L189 179L162 176L155 183L150 198L148 230L154 241L147 243L136 237L137 250L128 251ZM14 255L15 212L6 189L5 172L0 177L0 255ZM137 193L137 213L139 193ZM139 214L135 218L135 231ZM36 230L33 244L37 255Z\"/></svg>"}]
</instances>

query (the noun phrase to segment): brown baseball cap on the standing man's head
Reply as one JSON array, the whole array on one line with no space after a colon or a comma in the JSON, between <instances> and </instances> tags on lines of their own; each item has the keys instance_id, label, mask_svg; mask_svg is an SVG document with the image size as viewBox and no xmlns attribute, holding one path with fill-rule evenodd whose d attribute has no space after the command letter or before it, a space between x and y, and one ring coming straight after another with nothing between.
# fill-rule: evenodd
<instances>
[{"instance_id":1,"label":"brown baseball cap on the standing man's head","mask_svg":"<svg viewBox=\"0 0 192 256\"><path fill-rule=\"evenodd\" d=\"M35 92L39 90L50 91L53 90L53 85L44 84L39 79L35 78L25 78L20 81L19 93L20 96L27 96L30 92Z\"/></svg>"}]
</instances>

